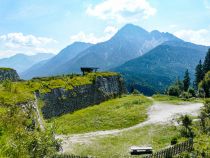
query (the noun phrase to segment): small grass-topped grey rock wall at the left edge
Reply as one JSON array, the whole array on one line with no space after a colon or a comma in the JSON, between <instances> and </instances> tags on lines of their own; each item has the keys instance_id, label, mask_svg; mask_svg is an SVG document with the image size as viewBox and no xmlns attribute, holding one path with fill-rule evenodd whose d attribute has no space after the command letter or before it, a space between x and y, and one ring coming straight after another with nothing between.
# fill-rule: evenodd
<instances>
[{"instance_id":1,"label":"small grass-topped grey rock wall at the left edge","mask_svg":"<svg viewBox=\"0 0 210 158\"><path fill-rule=\"evenodd\" d=\"M18 81L20 80L20 77L14 69L0 68L0 81L4 80Z\"/></svg>"}]
</instances>

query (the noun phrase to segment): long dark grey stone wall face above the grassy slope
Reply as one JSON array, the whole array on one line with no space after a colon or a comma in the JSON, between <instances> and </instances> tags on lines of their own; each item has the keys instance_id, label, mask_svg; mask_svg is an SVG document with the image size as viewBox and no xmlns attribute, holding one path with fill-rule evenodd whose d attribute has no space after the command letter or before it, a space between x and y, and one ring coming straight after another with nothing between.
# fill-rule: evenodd
<instances>
[{"instance_id":1,"label":"long dark grey stone wall face above the grassy slope","mask_svg":"<svg viewBox=\"0 0 210 158\"><path fill-rule=\"evenodd\" d=\"M51 118L99 104L126 92L123 79L116 75L99 76L92 84L77 86L72 90L57 88L46 94L37 93L37 96L45 102L43 116Z\"/></svg>"}]
</instances>

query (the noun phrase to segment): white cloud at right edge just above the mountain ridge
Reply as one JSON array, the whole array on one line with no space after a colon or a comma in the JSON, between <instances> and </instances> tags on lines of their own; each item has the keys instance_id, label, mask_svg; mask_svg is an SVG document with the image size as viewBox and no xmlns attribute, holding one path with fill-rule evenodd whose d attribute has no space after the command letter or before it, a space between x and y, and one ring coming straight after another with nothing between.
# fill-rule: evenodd
<instances>
[{"instance_id":1,"label":"white cloud at right edge just above the mountain ridge","mask_svg":"<svg viewBox=\"0 0 210 158\"><path fill-rule=\"evenodd\" d=\"M185 41L210 46L210 31L207 29L179 30L174 34Z\"/></svg>"}]
</instances>

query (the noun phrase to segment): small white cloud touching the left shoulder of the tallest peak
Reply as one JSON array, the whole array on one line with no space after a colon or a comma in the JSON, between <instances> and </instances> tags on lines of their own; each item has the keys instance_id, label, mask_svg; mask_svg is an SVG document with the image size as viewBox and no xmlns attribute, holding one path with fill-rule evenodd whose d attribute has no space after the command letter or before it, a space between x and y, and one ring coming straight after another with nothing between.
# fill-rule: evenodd
<instances>
[{"instance_id":1,"label":"small white cloud touching the left shoulder of the tallest peak","mask_svg":"<svg viewBox=\"0 0 210 158\"><path fill-rule=\"evenodd\" d=\"M88 43L99 43L99 42L104 42L108 39L110 39L115 33L117 32L117 28L113 26L108 26L104 29L104 35L103 36L96 36L94 33L89 33L86 34L84 32L79 32L76 35L73 35L70 37L70 42L88 42Z\"/></svg>"}]
</instances>

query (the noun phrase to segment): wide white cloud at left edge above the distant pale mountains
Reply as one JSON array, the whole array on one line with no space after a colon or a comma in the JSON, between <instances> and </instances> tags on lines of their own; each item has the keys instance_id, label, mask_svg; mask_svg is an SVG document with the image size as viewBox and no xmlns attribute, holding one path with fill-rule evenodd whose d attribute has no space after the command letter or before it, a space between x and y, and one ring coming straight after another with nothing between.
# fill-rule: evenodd
<instances>
[{"instance_id":1,"label":"wide white cloud at left edge above the distant pale mountains","mask_svg":"<svg viewBox=\"0 0 210 158\"><path fill-rule=\"evenodd\" d=\"M24 35L20 32L8 33L0 36L0 56L54 52L52 45L55 43L57 41L52 38Z\"/></svg>"}]
</instances>

